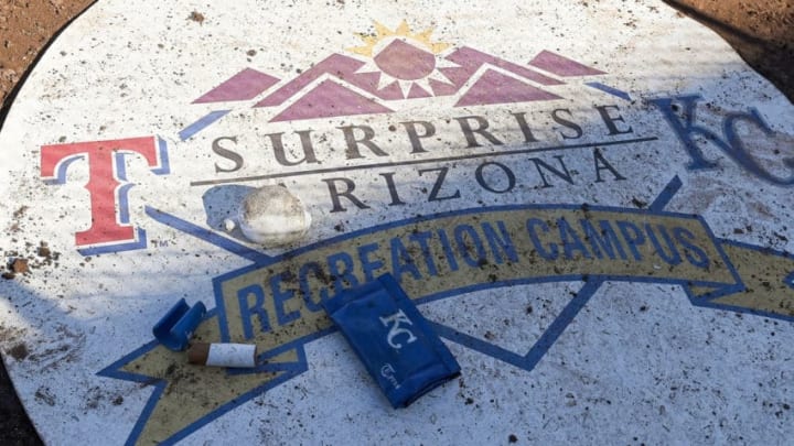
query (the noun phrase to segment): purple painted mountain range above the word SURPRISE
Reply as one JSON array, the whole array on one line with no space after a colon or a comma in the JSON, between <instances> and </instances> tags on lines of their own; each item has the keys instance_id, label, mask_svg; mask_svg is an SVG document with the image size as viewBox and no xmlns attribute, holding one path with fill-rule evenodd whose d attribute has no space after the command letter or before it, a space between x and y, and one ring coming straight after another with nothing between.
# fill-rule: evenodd
<instances>
[{"instance_id":1,"label":"purple painted mountain range above the word SURPRISE","mask_svg":"<svg viewBox=\"0 0 794 446\"><path fill-rule=\"evenodd\" d=\"M446 96L458 98L455 107L555 100L561 97L548 89L565 85L562 79L604 74L548 51L524 66L466 46L444 56L400 39L380 45L377 54L371 46L353 48L368 58L332 54L292 79L246 68L194 102L244 101L267 93L254 107L277 109L271 121L294 121L388 113L401 101Z\"/></svg>"}]
</instances>

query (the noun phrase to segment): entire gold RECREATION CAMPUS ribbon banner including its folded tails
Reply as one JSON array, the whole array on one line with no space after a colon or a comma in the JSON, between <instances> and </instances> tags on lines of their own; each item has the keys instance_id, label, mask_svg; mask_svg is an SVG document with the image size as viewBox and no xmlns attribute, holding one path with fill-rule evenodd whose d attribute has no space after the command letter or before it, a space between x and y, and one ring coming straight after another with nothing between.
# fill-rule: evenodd
<instances>
[{"instance_id":1,"label":"entire gold RECREATION CAMPUS ribbon banner including its folded tails","mask_svg":"<svg viewBox=\"0 0 794 446\"><path fill-rule=\"evenodd\" d=\"M794 316L792 255L717 239L697 216L522 206L414 218L216 278L216 308L194 338L256 344L258 367L195 367L184 352L142 347L108 373L157 387L130 438L181 438L302 373L303 344L332 330L321 302L384 273L419 303L495 286L611 280L679 285L700 306Z\"/></svg>"}]
</instances>

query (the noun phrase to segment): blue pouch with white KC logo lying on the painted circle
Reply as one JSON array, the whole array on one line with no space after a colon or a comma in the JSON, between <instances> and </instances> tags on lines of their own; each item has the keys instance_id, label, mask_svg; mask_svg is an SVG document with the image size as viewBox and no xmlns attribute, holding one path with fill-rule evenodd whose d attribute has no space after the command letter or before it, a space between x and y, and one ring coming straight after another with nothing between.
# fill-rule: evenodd
<instances>
[{"instance_id":1,"label":"blue pouch with white KC logo lying on the painted circle","mask_svg":"<svg viewBox=\"0 0 794 446\"><path fill-rule=\"evenodd\" d=\"M391 406L405 407L460 366L389 274L323 302Z\"/></svg>"}]
</instances>

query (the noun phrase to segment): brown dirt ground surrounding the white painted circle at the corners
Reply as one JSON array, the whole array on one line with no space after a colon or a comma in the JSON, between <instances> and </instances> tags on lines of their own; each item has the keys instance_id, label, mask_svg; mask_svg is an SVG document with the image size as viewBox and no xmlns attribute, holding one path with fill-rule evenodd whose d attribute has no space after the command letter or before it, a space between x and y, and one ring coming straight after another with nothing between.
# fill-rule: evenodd
<instances>
[{"instance_id":1,"label":"brown dirt ground surrounding the white painted circle at the corners","mask_svg":"<svg viewBox=\"0 0 794 446\"><path fill-rule=\"evenodd\" d=\"M794 101L794 3L791 0L665 0L717 31ZM0 126L14 88L56 33L93 0L0 0ZM196 17L197 19L197 17ZM195 19L194 19L195 20ZM9 355L19 356L14 350ZM36 445L0 361L0 443Z\"/></svg>"}]
</instances>

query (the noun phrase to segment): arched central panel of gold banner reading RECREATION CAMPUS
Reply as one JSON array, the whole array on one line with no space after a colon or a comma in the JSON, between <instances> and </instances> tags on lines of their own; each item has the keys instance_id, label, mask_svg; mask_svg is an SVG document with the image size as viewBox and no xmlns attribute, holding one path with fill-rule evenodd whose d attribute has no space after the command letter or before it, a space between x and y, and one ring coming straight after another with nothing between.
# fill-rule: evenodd
<instances>
[{"instance_id":1,"label":"arched central panel of gold banner reading RECREATION CAMPUS","mask_svg":"<svg viewBox=\"0 0 794 446\"><path fill-rule=\"evenodd\" d=\"M739 283L697 217L587 207L472 211L353 233L221 278L226 340L267 351L312 336L331 327L323 300L384 273L414 298L587 276Z\"/></svg>"}]
</instances>

